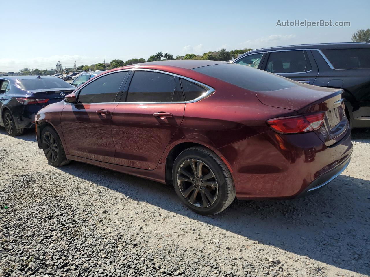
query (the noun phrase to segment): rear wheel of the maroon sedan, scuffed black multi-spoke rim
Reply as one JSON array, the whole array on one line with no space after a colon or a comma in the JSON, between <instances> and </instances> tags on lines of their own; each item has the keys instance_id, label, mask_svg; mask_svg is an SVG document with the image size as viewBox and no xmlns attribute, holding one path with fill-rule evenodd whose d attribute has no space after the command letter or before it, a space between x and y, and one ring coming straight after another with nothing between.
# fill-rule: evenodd
<instances>
[{"instance_id":1,"label":"rear wheel of the maroon sedan, scuffed black multi-spoke rim","mask_svg":"<svg viewBox=\"0 0 370 277\"><path fill-rule=\"evenodd\" d=\"M235 186L228 168L204 147L190 147L178 155L172 168L172 180L181 201L201 215L222 212L235 199Z\"/></svg>"}]
</instances>

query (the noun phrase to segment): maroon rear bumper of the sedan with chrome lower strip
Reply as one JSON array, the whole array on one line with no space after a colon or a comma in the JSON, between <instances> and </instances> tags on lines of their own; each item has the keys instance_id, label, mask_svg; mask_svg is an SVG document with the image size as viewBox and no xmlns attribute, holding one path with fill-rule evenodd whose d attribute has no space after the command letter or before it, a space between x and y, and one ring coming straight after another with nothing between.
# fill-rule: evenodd
<instances>
[{"instance_id":1,"label":"maroon rear bumper of the sedan with chrome lower strip","mask_svg":"<svg viewBox=\"0 0 370 277\"><path fill-rule=\"evenodd\" d=\"M346 166L353 146L350 130L332 146L314 132L271 130L218 150L231 166L238 199L289 199L329 182Z\"/></svg>"}]
</instances>

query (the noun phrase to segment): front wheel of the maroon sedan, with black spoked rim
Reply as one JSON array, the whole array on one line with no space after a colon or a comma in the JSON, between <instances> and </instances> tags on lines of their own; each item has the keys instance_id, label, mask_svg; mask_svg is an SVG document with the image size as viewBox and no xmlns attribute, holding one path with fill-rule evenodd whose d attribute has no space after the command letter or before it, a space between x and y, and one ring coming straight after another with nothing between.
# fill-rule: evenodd
<instances>
[{"instance_id":1,"label":"front wheel of the maroon sedan, with black spoked rim","mask_svg":"<svg viewBox=\"0 0 370 277\"><path fill-rule=\"evenodd\" d=\"M71 161L65 156L63 144L53 127L46 126L41 133L42 146L48 162L54 167L61 167Z\"/></svg>"}]
</instances>

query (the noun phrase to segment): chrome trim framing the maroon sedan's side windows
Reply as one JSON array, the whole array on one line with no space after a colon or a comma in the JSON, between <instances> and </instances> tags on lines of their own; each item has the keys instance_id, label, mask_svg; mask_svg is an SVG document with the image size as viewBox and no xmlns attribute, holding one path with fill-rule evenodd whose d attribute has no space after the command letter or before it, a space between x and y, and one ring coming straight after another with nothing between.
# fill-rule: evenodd
<instances>
[{"instance_id":1,"label":"chrome trim framing the maroon sedan's side windows","mask_svg":"<svg viewBox=\"0 0 370 277\"><path fill-rule=\"evenodd\" d=\"M64 105L75 105L75 104L92 104L92 105L96 105L96 104L103 104L103 105L106 105L106 104L137 104L137 105L143 105L143 104L186 104L186 103L195 103L195 102L198 102L202 99L205 99L207 98L208 96L211 96L214 92L215 92L215 89L204 84L204 83L201 83L201 82L198 82L194 79L190 79L188 77L185 77L185 76L182 76L182 75L177 75L175 73L171 73L171 72L166 72L166 71L161 71L161 70L158 70L158 69L150 69L150 68L129 68L129 69L122 69L122 70L117 70L117 71L113 71L113 72L109 72L109 73L106 73L104 75L101 75L99 76L98 78L96 78L95 80L101 78L102 76L105 76L105 75L108 75L108 74L111 74L111 73L116 73L116 72L122 72L122 71L151 71L151 72L158 72L158 73L164 73L164 74L168 74L168 75L172 75L172 76L177 76L179 78L182 78L182 79L185 79L185 80L188 80L189 82L192 82L192 83L195 83L196 85L199 85L201 86L202 88L205 88L206 89L206 92L203 93L203 95L193 99L193 100L188 100L188 101L174 101L174 102L104 102L104 103L64 103ZM78 95L80 95L80 90L83 89L83 88L78 88L77 91L75 92L75 94L78 93Z\"/></svg>"}]
</instances>

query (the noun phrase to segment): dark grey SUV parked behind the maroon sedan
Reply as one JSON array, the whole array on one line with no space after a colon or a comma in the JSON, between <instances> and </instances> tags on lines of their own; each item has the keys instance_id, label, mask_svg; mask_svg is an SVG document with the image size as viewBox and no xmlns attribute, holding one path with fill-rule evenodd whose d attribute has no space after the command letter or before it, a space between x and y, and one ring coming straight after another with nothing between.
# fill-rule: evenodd
<instances>
[{"instance_id":1,"label":"dark grey SUV parked behind the maroon sedan","mask_svg":"<svg viewBox=\"0 0 370 277\"><path fill-rule=\"evenodd\" d=\"M231 61L316 86L342 88L351 127L370 127L370 44L305 44L256 49Z\"/></svg>"}]
</instances>

